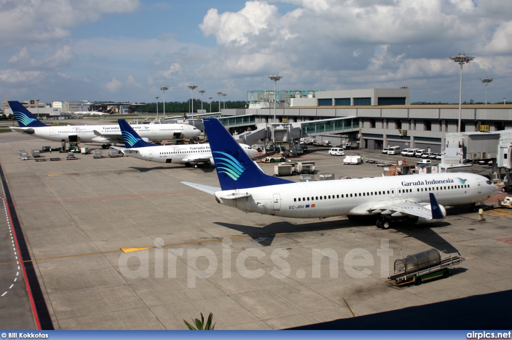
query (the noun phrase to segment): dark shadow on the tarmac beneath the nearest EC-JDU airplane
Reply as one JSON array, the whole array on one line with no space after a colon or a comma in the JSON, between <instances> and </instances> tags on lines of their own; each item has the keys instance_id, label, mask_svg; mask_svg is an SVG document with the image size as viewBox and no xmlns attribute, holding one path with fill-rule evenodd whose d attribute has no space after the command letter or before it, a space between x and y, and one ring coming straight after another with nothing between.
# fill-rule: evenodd
<instances>
[{"instance_id":1,"label":"dark shadow on the tarmac beneath the nearest EC-JDU airplane","mask_svg":"<svg viewBox=\"0 0 512 340\"><path fill-rule=\"evenodd\" d=\"M272 244L274 237L276 234L283 233L300 233L300 232L308 232L308 231L316 231L316 230L326 230L326 229L340 229L340 228L349 228L351 226L363 226L369 225L366 223L367 221L358 221L353 222L349 220L332 220L332 221L323 221L323 222L313 222L313 223L305 223L305 224L292 224L290 222L275 222L265 225L263 227L251 226L251 225L241 225L241 224L232 224L232 223L224 223L224 222L214 222L215 224L225 226L226 228L237 230L243 234L250 236L254 241L260 243L262 246L269 246ZM392 233L402 233L405 234L404 238L413 237L418 241L421 241L425 244L430 245L433 248L438 250L447 250L450 253L457 253L458 250L450 244L450 242L446 241L444 238L439 236L434 229L437 227L447 226L450 223L447 222L437 222L428 225L421 224L413 224L404 222L402 224L395 224L391 227L390 232ZM381 230L375 227L375 232L381 232Z\"/></svg>"}]
</instances>

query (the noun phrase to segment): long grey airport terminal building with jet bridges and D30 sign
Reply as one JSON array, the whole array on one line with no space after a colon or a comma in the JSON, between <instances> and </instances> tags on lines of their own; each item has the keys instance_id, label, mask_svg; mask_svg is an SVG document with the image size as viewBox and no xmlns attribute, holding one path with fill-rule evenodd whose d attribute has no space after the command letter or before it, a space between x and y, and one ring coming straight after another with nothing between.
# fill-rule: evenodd
<instances>
[{"instance_id":1,"label":"long grey airport terminal building with jet bridges and D30 sign","mask_svg":"<svg viewBox=\"0 0 512 340\"><path fill-rule=\"evenodd\" d=\"M396 145L440 152L446 133L458 132L459 105L412 105L410 96L407 87L279 90L274 101L272 90L258 90L247 92L247 108L223 109L222 115L231 132L259 123L291 123L301 127L302 137L333 145L355 141L361 148ZM460 118L462 132L512 129L512 105L465 104Z\"/></svg>"}]
</instances>

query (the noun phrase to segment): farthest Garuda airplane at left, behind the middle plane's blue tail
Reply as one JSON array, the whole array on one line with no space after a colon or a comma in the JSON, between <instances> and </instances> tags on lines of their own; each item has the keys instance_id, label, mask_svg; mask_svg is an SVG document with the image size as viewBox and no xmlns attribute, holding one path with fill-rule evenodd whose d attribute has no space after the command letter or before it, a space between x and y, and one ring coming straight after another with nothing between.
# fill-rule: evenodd
<instances>
[{"instance_id":1,"label":"farthest Garuda airplane at left, behind the middle plane's blue tail","mask_svg":"<svg viewBox=\"0 0 512 340\"><path fill-rule=\"evenodd\" d=\"M33 135L49 141L69 141L70 135L78 135L82 143L101 143L103 148L109 144L123 143L119 125L46 125L34 117L22 104L9 101L12 112L18 121L11 130ZM142 138L151 141L171 140L175 135L184 138L196 137L201 130L188 124L143 124L134 125Z\"/></svg>"}]
</instances>

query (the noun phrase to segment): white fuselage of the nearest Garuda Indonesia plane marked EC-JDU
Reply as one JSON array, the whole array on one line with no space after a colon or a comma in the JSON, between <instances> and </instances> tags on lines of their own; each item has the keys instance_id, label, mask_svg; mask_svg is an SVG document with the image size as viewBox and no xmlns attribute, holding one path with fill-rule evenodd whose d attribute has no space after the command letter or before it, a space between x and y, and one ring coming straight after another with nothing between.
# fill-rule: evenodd
<instances>
[{"instance_id":1,"label":"white fuselage of the nearest Garuda Indonesia plane marked EC-JDU","mask_svg":"<svg viewBox=\"0 0 512 340\"><path fill-rule=\"evenodd\" d=\"M476 203L496 191L496 185L480 175L440 173L280 184L218 191L215 196L219 203L244 211L323 218L377 215L382 212L379 206L391 202L412 201L426 206L430 193L435 194L439 205Z\"/></svg>"}]
</instances>

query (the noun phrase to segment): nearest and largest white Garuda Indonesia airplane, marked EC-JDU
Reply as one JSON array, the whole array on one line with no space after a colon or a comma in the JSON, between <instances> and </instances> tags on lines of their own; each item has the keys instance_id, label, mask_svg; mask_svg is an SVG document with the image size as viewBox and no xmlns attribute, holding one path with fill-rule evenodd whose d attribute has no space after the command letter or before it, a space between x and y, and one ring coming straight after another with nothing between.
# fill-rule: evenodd
<instances>
[{"instance_id":1,"label":"nearest and largest white Garuda Indonesia airplane, marked EC-JDU","mask_svg":"<svg viewBox=\"0 0 512 340\"><path fill-rule=\"evenodd\" d=\"M182 182L243 211L295 218L374 215L379 228L393 221L442 221L443 205L475 204L498 191L487 178L438 173L296 183L272 177L241 152L217 119L204 126L221 188Z\"/></svg>"}]
</instances>

